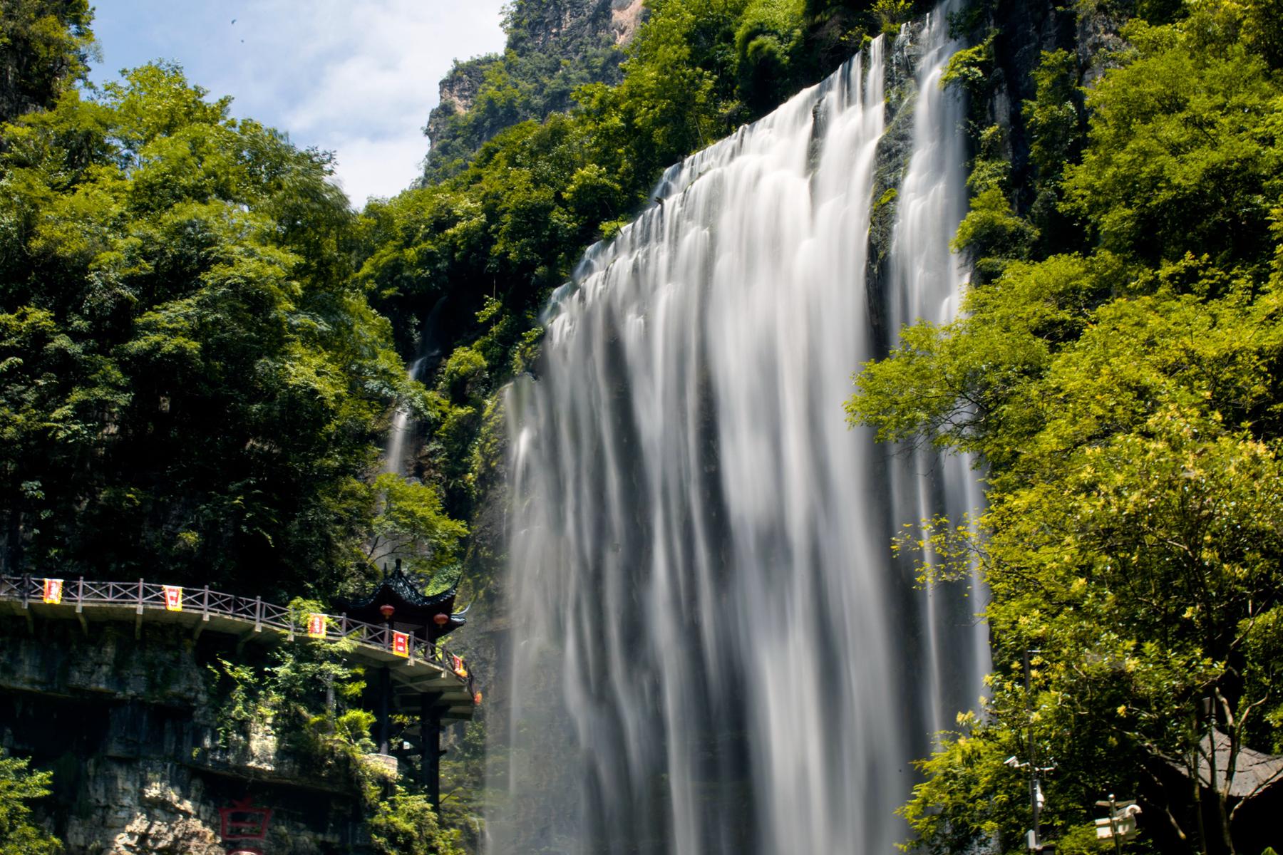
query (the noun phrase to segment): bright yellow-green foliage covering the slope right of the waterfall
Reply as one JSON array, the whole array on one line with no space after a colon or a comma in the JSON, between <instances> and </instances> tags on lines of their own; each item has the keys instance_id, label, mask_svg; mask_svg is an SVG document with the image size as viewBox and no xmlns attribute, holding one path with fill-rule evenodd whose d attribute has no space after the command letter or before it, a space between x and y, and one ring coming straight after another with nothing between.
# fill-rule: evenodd
<instances>
[{"instance_id":1,"label":"bright yellow-green foliage covering the slope right of the waterfall","mask_svg":"<svg viewBox=\"0 0 1283 855\"><path fill-rule=\"evenodd\" d=\"M1236 751L1279 747L1283 81L1246 15L1209 1L1129 24L1123 64L1087 94L1082 149L1073 59L1044 54L1024 109L1034 222L981 138L960 319L903 329L857 377L854 422L988 472L974 527L902 541L944 559L928 578L980 568L994 640L980 714L922 761L905 808L916 849L1024 849L1026 779L1002 763L1029 756L1028 731L1055 758L1060 851L1093 851L1106 792L1155 806L1142 850L1230 851L1242 802L1205 792L1202 828L1165 764L1192 768L1211 727ZM1039 240L1053 213L1078 226L1055 245ZM1041 651L1028 696L1025 650Z\"/></svg>"}]
</instances>

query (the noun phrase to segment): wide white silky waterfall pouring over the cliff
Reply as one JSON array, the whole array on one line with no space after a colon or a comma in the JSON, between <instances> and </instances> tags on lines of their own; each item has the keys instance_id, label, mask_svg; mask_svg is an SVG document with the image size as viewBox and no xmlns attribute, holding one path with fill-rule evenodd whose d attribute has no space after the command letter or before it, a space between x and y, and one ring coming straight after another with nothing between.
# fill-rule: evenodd
<instances>
[{"instance_id":1,"label":"wide white silky waterfall pouring over the cliff","mask_svg":"<svg viewBox=\"0 0 1283 855\"><path fill-rule=\"evenodd\" d=\"M888 544L974 501L974 479L890 458L842 403L888 345L874 309L939 319L962 285L946 31L937 14L878 38L671 168L662 204L554 297L540 377L509 399L508 786L489 851L826 855L903 837L908 760L985 663L975 608L913 591ZM919 95L871 306L888 77Z\"/></svg>"}]
</instances>

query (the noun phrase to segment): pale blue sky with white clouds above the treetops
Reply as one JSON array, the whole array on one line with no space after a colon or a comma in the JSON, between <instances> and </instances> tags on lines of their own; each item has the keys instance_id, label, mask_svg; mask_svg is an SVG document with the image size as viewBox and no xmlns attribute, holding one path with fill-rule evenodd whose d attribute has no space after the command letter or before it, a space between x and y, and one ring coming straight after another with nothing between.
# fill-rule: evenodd
<instances>
[{"instance_id":1,"label":"pale blue sky with white clouds above the treetops","mask_svg":"<svg viewBox=\"0 0 1283 855\"><path fill-rule=\"evenodd\" d=\"M91 79L177 62L232 114L337 155L353 206L420 173L454 59L503 49L503 0L99 0Z\"/></svg>"}]
</instances>

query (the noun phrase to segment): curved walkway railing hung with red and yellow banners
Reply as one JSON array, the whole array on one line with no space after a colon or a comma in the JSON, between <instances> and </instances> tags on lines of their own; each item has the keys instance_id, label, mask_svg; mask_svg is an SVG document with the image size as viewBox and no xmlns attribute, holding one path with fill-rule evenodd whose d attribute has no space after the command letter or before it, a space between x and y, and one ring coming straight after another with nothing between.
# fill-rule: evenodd
<instances>
[{"instance_id":1,"label":"curved walkway railing hung with red and yellow banners","mask_svg":"<svg viewBox=\"0 0 1283 855\"><path fill-rule=\"evenodd\" d=\"M409 664L421 661L441 668L458 677L467 686L468 695L475 693L472 670L467 667L462 656L454 656L444 645L439 647L431 642L425 643L413 632L403 633L389 624L353 620L346 614L298 613L289 606L267 602L262 597L240 597L234 594L214 591L208 585L200 588L189 588L157 585L146 579L139 579L137 582L99 582L96 579L86 579L85 577L56 581L62 582L62 596L58 605L74 608L77 613L82 611L87 605L114 605L133 606L135 613L139 615L148 610L199 614L201 615L201 620L209 620L210 615L217 615L253 623L255 632L262 632L267 628L284 632L290 638L294 638L295 635L307 635L317 640L348 640L357 645L376 647L393 654L396 654L395 636L402 635L405 636L407 641L405 652L396 655L404 655ZM32 602L44 604L45 582L45 577L37 576L0 576L0 600L22 602L23 609ZM181 590L181 609L171 608L167 599L167 588ZM308 618L310 617L323 618L321 633L308 632Z\"/></svg>"}]
</instances>

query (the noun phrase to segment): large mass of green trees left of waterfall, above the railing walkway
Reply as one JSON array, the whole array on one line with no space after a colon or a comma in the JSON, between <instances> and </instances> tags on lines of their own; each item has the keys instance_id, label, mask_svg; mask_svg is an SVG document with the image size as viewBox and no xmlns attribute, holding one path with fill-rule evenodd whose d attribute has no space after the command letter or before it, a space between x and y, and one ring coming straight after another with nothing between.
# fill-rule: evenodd
<instances>
[{"instance_id":1,"label":"large mass of green trees left of waterfall, above the railing walkway","mask_svg":"<svg viewBox=\"0 0 1283 855\"><path fill-rule=\"evenodd\" d=\"M9 572L334 592L361 555L387 404L427 404L328 156L227 109L145 65L0 129Z\"/></svg>"}]
</instances>

